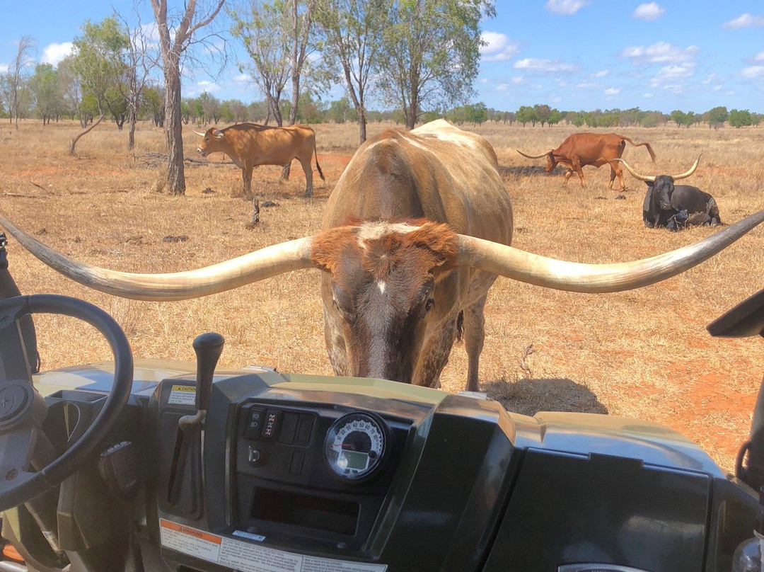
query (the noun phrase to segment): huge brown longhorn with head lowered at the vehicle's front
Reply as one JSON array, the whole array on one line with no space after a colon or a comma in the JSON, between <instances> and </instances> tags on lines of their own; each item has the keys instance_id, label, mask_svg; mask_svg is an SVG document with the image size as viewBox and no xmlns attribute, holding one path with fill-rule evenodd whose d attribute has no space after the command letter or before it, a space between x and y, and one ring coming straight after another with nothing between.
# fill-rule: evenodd
<instances>
[{"instance_id":1,"label":"huge brown longhorn with head lowered at the vehicle's front","mask_svg":"<svg viewBox=\"0 0 764 572\"><path fill-rule=\"evenodd\" d=\"M141 275L96 268L0 216L57 271L141 300L199 297L319 268L326 345L338 375L438 385L462 314L470 390L478 389L483 307L497 275L565 291L639 288L703 262L762 221L764 211L694 245L620 264L577 264L514 249L494 149L442 120L411 132L390 129L361 145L329 198L318 235L199 270Z\"/></svg>"}]
</instances>

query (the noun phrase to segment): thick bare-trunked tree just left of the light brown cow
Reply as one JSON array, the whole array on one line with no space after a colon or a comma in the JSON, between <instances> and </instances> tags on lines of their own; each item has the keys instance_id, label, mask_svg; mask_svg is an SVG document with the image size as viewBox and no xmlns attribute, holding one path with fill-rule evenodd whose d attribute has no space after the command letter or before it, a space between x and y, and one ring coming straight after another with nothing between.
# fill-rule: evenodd
<instances>
[{"instance_id":1,"label":"thick bare-trunked tree just left of the light brown cow","mask_svg":"<svg viewBox=\"0 0 764 572\"><path fill-rule=\"evenodd\" d=\"M197 43L205 43L210 36L196 38L195 34L215 20L225 0L214 0L210 5L197 6L196 0L186 0L183 9L171 11L167 0L151 0L157 21L159 48L164 76L164 115L167 122L167 192L186 193L186 174L183 171L183 122L180 112L180 64L183 55Z\"/></svg>"}]
</instances>

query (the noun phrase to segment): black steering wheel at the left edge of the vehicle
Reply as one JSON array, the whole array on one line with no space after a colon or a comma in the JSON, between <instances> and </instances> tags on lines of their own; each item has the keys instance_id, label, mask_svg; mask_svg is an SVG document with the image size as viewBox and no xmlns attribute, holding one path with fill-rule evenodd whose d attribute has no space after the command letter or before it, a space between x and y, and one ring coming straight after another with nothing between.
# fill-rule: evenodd
<instances>
[{"instance_id":1,"label":"black steering wheel at the left edge of the vehicle","mask_svg":"<svg viewBox=\"0 0 764 572\"><path fill-rule=\"evenodd\" d=\"M31 470L31 458L47 405L32 385L28 367L20 375L18 361L13 361L18 357L24 362L24 356L11 356L11 362L8 356L0 356L0 511L40 495L73 474L114 427L128 402L133 382L133 356L127 336L99 307L57 294L6 298L0 301L0 340L14 335L18 339L18 333L6 328L18 328L18 320L27 314L60 314L95 327L112 349L114 380L112 391L87 431L60 457L35 472ZM14 364L16 367L12 367Z\"/></svg>"}]
</instances>

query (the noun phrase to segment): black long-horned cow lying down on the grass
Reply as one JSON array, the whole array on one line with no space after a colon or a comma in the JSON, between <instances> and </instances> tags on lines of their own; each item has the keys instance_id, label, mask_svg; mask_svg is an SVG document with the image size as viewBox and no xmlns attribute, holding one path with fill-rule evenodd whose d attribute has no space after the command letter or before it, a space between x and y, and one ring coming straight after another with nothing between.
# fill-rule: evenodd
<instances>
[{"instance_id":1,"label":"black long-horned cow lying down on the grass","mask_svg":"<svg viewBox=\"0 0 764 572\"><path fill-rule=\"evenodd\" d=\"M690 170L680 175L642 175L634 171L626 161L620 160L626 170L647 184L647 192L642 205L645 226L654 228L665 226L678 230L685 226L721 224L719 207L714 197L689 185L675 185L675 180L689 177L698 168L701 158Z\"/></svg>"}]
</instances>

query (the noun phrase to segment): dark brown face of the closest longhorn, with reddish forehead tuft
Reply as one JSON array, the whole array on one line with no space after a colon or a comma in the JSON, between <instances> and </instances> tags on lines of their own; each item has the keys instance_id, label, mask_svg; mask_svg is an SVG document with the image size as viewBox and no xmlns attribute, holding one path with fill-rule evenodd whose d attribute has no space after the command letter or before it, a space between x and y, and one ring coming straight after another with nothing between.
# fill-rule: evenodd
<instances>
[{"instance_id":1,"label":"dark brown face of the closest longhorn, with reddish forehead tuft","mask_svg":"<svg viewBox=\"0 0 764 572\"><path fill-rule=\"evenodd\" d=\"M453 314L455 249L432 235L435 225L383 234L380 226L342 227L314 245L312 258L331 274L322 291L335 338L327 341L345 350L330 358L346 375L410 383L427 367L418 361L434 324Z\"/></svg>"}]
</instances>

